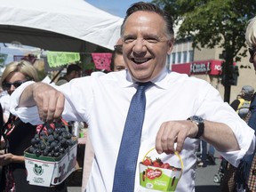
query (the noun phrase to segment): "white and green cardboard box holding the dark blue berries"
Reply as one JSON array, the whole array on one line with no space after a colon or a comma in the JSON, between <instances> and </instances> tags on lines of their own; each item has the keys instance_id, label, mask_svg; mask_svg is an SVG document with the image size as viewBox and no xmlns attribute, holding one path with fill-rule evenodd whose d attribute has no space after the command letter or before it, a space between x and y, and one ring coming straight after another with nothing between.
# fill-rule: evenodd
<instances>
[{"instance_id":1,"label":"white and green cardboard box holding the dark blue berries","mask_svg":"<svg viewBox=\"0 0 256 192\"><path fill-rule=\"evenodd\" d=\"M76 170L77 142L59 157L36 156L25 150L25 166L30 185L51 187L59 185Z\"/></svg>"}]
</instances>

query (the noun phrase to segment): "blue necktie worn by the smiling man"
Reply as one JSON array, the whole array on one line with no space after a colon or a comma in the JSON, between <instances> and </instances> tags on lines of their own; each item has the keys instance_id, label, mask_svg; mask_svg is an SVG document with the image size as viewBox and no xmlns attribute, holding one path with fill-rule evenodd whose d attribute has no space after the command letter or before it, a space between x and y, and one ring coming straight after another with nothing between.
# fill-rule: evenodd
<instances>
[{"instance_id":1,"label":"blue necktie worn by the smiling man","mask_svg":"<svg viewBox=\"0 0 256 192\"><path fill-rule=\"evenodd\" d=\"M140 135L144 121L146 96L145 90L151 82L138 83L133 95L116 161L113 192L132 192L140 149Z\"/></svg>"}]
</instances>

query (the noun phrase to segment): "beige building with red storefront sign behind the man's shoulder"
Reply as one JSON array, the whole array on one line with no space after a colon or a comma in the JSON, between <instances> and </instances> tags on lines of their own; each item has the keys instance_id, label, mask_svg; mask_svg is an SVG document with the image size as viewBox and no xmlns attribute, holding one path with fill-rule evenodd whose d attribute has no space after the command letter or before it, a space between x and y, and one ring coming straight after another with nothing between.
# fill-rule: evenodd
<instances>
[{"instance_id":1,"label":"beige building with red storefront sign behind the man's shoulder","mask_svg":"<svg viewBox=\"0 0 256 192\"><path fill-rule=\"evenodd\" d=\"M167 67L172 71L196 76L212 84L224 99L224 86L221 84L222 49L215 46L213 49L194 49L192 41L175 43L171 55L167 60ZM249 62L249 53L241 61L234 63L238 68L237 84L231 85L230 103L236 100L244 85L251 85L256 90L256 75L252 63Z\"/></svg>"}]
</instances>

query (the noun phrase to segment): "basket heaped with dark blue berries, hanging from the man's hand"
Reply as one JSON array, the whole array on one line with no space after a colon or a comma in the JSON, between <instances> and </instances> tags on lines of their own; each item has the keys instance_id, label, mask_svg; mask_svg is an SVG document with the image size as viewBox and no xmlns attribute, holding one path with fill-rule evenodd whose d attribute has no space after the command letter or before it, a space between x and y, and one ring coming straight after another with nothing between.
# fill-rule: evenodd
<instances>
[{"instance_id":1,"label":"basket heaped with dark blue berries, hanging from the man's hand","mask_svg":"<svg viewBox=\"0 0 256 192\"><path fill-rule=\"evenodd\" d=\"M76 171L77 139L64 120L37 126L31 146L24 151L30 185L59 185Z\"/></svg>"}]
</instances>

